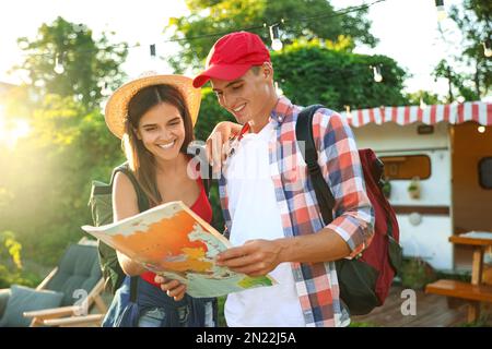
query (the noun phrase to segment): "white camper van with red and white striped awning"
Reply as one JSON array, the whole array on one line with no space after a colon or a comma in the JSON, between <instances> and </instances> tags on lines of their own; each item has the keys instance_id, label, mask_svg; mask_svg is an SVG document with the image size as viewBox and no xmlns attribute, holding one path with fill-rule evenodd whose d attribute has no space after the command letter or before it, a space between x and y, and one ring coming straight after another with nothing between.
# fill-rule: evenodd
<instances>
[{"instance_id":1,"label":"white camper van with red and white striped awning","mask_svg":"<svg viewBox=\"0 0 492 349\"><path fill-rule=\"evenodd\" d=\"M405 256L443 272L471 269L449 237L492 232L492 104L380 107L342 113L360 148L385 164Z\"/></svg>"}]
</instances>

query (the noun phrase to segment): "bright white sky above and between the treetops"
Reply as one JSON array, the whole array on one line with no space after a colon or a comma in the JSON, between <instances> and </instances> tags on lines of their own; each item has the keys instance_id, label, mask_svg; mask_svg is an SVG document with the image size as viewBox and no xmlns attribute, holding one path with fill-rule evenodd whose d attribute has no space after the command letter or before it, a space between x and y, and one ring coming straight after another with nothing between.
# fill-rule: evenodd
<instances>
[{"instance_id":1,"label":"bright white sky above and between the treetops","mask_svg":"<svg viewBox=\"0 0 492 349\"><path fill-rule=\"evenodd\" d=\"M368 3L373 0L366 1ZM362 0L333 0L337 9L360 5ZM460 0L446 0L445 5L460 4ZM3 5L7 7L7 5ZM27 10L28 9L28 10ZM15 0L8 9L0 11L0 81L19 83L22 75L8 75L7 71L20 60L22 51L16 46L21 36L35 37L42 23L50 23L58 15L66 20L84 23L97 35L103 31L116 32L115 39L129 44L140 43L142 47L130 50L124 68L130 76L147 70L169 72L163 62L152 62L150 44L157 44L157 53L173 51L173 45L163 44L163 27L172 16L187 12L183 0ZM434 82L433 67L450 51L442 43L437 32L434 0L387 0L370 10L373 21L372 33L379 38L374 48L361 47L358 52L379 53L394 58L413 76L407 81L407 91L430 89L446 93L446 82ZM452 27L450 20L443 22ZM459 34L454 39L459 41ZM190 72L194 73L194 72Z\"/></svg>"}]
</instances>

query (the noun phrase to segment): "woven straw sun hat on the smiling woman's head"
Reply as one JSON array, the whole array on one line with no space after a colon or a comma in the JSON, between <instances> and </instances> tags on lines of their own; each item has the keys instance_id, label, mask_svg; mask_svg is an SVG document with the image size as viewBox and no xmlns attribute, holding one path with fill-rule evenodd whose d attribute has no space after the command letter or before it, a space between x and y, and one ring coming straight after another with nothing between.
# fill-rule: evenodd
<instances>
[{"instance_id":1,"label":"woven straw sun hat on the smiling woman's head","mask_svg":"<svg viewBox=\"0 0 492 349\"><path fill-rule=\"evenodd\" d=\"M125 121L128 117L128 103L130 99L140 89L161 84L175 86L181 93L195 125L200 109L201 92L199 88L194 87L192 80L183 75L150 75L126 83L109 97L104 112L109 131L118 139L121 139L125 133Z\"/></svg>"}]
</instances>

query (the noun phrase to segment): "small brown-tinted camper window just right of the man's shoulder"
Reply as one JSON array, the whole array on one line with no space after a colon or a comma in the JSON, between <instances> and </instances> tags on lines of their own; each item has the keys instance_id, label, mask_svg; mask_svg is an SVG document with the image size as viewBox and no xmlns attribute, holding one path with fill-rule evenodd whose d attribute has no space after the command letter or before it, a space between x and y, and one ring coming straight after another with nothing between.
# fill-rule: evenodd
<instances>
[{"instance_id":1,"label":"small brown-tinted camper window just right of the man's shoulder","mask_svg":"<svg viewBox=\"0 0 492 349\"><path fill-rule=\"evenodd\" d=\"M431 177L431 159L426 155L382 156L385 177L391 180Z\"/></svg>"}]
</instances>

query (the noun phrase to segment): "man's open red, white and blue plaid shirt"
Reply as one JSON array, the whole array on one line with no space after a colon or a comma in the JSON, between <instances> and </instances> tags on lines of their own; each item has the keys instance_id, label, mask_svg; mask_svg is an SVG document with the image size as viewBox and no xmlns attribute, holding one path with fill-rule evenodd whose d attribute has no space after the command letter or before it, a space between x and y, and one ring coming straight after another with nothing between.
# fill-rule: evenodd
<instances>
[{"instance_id":1,"label":"man's open red, white and blue plaid shirt","mask_svg":"<svg viewBox=\"0 0 492 349\"><path fill-rule=\"evenodd\" d=\"M311 234L324 228L316 194L295 139L295 123L301 110L302 107L281 97L269 120L277 131L277 136L269 141L270 172L285 237ZM348 243L350 257L356 256L372 239L374 214L365 193L352 131L338 113L319 109L313 118L313 136L319 166L336 200L335 219L327 228ZM233 222L227 208L225 176L219 180L219 192L225 225L231 231ZM347 313L340 304L335 263L291 263L291 266L306 325L340 326L345 323L348 318L343 318Z\"/></svg>"}]
</instances>

